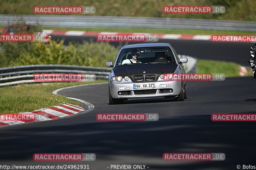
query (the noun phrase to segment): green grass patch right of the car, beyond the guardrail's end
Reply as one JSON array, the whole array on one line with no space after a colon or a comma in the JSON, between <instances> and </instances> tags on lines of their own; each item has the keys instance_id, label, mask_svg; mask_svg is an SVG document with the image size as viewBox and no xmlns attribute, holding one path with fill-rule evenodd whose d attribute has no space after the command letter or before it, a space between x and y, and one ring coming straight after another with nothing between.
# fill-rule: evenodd
<instances>
[{"instance_id":1,"label":"green grass patch right of the car, beyond the guardrail's end","mask_svg":"<svg viewBox=\"0 0 256 170\"><path fill-rule=\"evenodd\" d=\"M248 75L251 76L251 69L247 68ZM239 77L240 65L233 62L197 60L197 73L224 73L226 77Z\"/></svg>"}]
</instances>

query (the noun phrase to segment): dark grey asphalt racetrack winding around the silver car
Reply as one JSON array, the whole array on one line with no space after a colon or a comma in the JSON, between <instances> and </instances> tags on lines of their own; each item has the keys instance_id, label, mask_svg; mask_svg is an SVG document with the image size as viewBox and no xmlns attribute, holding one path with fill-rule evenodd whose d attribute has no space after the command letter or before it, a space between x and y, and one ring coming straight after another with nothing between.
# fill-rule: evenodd
<instances>
[{"instance_id":1,"label":"dark grey asphalt racetrack winding around the silver car","mask_svg":"<svg viewBox=\"0 0 256 170\"><path fill-rule=\"evenodd\" d=\"M242 65L247 65L249 49L253 45L169 42L177 53ZM213 113L255 113L255 81L253 77L187 81L188 99L185 101L134 99L122 105L108 104L107 83L62 90L58 94L85 100L95 108L88 113L54 121L0 128L0 164L87 164L91 170L110 169L111 164L144 164L150 170L237 169L237 165L256 165L255 122L211 121ZM159 120L99 122L96 121L97 113L157 113ZM225 153L226 160L164 161L162 155L165 152ZM95 153L96 160L34 161L34 153Z\"/></svg>"}]
</instances>

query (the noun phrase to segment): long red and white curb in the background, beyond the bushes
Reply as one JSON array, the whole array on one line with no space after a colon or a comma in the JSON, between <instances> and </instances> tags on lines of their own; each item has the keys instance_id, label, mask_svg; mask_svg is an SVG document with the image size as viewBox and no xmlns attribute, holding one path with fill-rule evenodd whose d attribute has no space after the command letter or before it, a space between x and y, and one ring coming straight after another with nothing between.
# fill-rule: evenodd
<instances>
[{"instance_id":1,"label":"long red and white curb in the background, beyond the bushes","mask_svg":"<svg viewBox=\"0 0 256 170\"><path fill-rule=\"evenodd\" d=\"M66 36L97 36L98 34L124 34L116 32L94 32L94 31L62 31L62 30L43 30L50 35L66 35ZM185 34L150 34L150 33L125 33L125 34L145 34L157 35L159 39L169 40L204 40L210 41L211 35L185 35Z\"/></svg>"}]
</instances>

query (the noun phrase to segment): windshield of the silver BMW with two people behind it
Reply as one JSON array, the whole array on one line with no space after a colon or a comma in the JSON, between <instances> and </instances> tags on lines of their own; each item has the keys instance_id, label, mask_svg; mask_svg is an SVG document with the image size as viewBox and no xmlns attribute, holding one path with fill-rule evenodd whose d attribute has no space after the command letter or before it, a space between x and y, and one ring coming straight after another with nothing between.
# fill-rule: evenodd
<instances>
[{"instance_id":1,"label":"windshield of the silver BMW with two people behind it","mask_svg":"<svg viewBox=\"0 0 256 170\"><path fill-rule=\"evenodd\" d=\"M137 63L175 63L168 47L127 48L118 56L116 66Z\"/></svg>"}]
</instances>

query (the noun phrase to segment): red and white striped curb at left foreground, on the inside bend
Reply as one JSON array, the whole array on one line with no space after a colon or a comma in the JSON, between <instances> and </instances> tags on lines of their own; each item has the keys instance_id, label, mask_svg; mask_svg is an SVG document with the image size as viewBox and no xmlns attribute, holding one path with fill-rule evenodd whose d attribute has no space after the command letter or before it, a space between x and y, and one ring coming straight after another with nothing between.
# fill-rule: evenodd
<instances>
[{"instance_id":1,"label":"red and white striped curb at left foreground, on the inside bend","mask_svg":"<svg viewBox=\"0 0 256 170\"><path fill-rule=\"evenodd\" d=\"M48 121L53 119L58 119L61 117L66 117L70 115L75 115L77 113L83 112L85 109L83 107L79 107L76 105L68 104L68 103L61 103L60 105L53 106L53 107L45 107L39 110L34 110L32 112L20 112L19 114L35 114L36 119L34 121L1 121L0 126L7 126L7 125L16 125L28 122L38 122L38 121ZM7 115L8 114L4 114ZM40 117L40 118L39 118Z\"/></svg>"}]
</instances>

